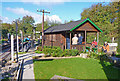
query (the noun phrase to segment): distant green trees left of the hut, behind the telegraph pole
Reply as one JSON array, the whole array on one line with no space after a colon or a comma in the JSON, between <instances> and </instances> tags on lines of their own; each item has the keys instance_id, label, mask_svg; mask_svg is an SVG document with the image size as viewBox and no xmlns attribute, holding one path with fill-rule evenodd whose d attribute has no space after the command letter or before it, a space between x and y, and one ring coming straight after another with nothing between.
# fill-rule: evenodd
<instances>
[{"instance_id":1,"label":"distant green trees left of the hut, behind the telegraph pole","mask_svg":"<svg viewBox=\"0 0 120 81\"><path fill-rule=\"evenodd\" d=\"M23 36L28 36L33 34L33 24L35 23L35 20L32 16L23 16L21 20L18 22L18 35L20 35L20 30L23 32ZM11 24L8 23L2 23L2 20L0 20L0 28L2 28L2 38L7 38L7 33L15 34L16 33L16 24L15 22L12 22ZM44 22L44 30L47 29L50 26L56 26L59 25L60 22L56 21L50 21L47 19ZM36 24L36 31L42 31L42 23ZM40 34L36 35L37 38L40 36Z\"/></svg>"}]
</instances>

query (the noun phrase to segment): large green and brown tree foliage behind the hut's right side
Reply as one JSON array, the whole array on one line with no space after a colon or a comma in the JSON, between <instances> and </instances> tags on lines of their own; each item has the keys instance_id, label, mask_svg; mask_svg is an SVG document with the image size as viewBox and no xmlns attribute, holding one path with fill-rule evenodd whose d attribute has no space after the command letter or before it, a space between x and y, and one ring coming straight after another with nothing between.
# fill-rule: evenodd
<instances>
[{"instance_id":1,"label":"large green and brown tree foliage behind the hut's right side","mask_svg":"<svg viewBox=\"0 0 120 81\"><path fill-rule=\"evenodd\" d=\"M90 18L103 33L100 33L99 42L103 44L104 41L111 42L112 37L115 37L115 42L118 41L118 2L111 2L109 4L98 3L92 5L90 8L84 9L81 13L81 19ZM88 40L92 39L89 35Z\"/></svg>"}]
</instances>

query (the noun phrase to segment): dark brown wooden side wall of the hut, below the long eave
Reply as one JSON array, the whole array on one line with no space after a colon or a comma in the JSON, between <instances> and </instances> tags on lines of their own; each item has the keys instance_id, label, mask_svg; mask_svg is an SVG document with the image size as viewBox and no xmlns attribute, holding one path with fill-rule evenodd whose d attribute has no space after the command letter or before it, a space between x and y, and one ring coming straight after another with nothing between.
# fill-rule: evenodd
<instances>
[{"instance_id":1,"label":"dark brown wooden side wall of the hut, below the long eave","mask_svg":"<svg viewBox=\"0 0 120 81\"><path fill-rule=\"evenodd\" d=\"M62 49L64 49L65 48L65 34L64 33L45 34L44 45L45 46L59 46Z\"/></svg>"}]
</instances>

